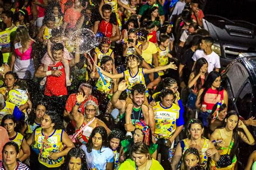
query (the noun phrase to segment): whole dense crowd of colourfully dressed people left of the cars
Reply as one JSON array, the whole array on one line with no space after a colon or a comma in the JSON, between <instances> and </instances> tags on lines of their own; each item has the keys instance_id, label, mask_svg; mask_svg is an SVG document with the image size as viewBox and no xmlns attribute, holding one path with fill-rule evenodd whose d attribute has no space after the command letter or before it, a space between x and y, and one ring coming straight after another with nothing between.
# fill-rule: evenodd
<instances>
[{"instance_id":1,"label":"whole dense crowd of colourfully dressed people left of the cars","mask_svg":"<svg viewBox=\"0 0 256 170\"><path fill-rule=\"evenodd\" d=\"M203 2L0 0L1 169L239 169Z\"/></svg>"}]
</instances>

